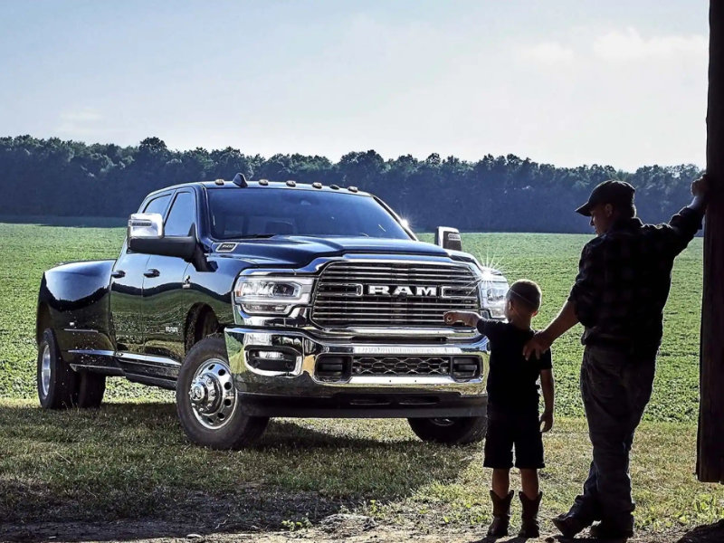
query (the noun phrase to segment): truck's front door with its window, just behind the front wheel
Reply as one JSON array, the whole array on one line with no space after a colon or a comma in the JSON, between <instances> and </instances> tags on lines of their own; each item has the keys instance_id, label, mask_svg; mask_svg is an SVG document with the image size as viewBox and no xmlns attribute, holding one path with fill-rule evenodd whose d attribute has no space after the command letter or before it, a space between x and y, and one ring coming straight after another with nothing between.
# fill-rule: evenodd
<instances>
[{"instance_id":1,"label":"truck's front door with its window, just behind the front wheel","mask_svg":"<svg viewBox=\"0 0 724 543\"><path fill-rule=\"evenodd\" d=\"M164 237L186 236L197 223L196 198L192 190L176 192L164 223ZM184 325L191 306L185 287L188 269L193 266L175 256L152 255L143 279L144 354L173 358L186 355Z\"/></svg>"}]
</instances>

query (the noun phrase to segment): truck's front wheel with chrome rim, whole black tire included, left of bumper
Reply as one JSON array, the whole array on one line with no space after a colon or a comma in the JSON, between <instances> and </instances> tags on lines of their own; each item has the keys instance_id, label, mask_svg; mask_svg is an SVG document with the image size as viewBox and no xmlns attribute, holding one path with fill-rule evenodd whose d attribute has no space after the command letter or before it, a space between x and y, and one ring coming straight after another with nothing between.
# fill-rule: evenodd
<instances>
[{"instance_id":1,"label":"truck's front wheel with chrome rim, whole black tire included, left of bumper","mask_svg":"<svg viewBox=\"0 0 724 543\"><path fill-rule=\"evenodd\" d=\"M186 354L176 382L176 412L188 439L211 449L250 445L269 423L268 417L243 414L223 338L202 339Z\"/></svg>"}]
</instances>

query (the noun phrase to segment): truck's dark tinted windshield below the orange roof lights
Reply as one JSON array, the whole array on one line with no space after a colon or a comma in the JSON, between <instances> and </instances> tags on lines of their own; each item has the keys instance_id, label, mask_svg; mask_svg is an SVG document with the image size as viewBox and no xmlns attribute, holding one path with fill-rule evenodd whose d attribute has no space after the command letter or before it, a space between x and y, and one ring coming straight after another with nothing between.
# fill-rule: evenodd
<instances>
[{"instance_id":1,"label":"truck's dark tinted windshield below the orange roof lights","mask_svg":"<svg viewBox=\"0 0 724 543\"><path fill-rule=\"evenodd\" d=\"M271 187L211 189L208 195L215 239L275 234L410 239L370 196Z\"/></svg>"}]
</instances>

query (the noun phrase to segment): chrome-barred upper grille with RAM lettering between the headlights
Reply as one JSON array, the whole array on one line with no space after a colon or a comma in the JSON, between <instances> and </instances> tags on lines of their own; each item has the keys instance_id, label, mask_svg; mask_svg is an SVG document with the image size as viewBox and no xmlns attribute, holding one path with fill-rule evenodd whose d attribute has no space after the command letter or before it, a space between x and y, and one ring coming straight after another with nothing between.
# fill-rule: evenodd
<instances>
[{"instance_id":1,"label":"chrome-barred upper grille with RAM lettering between the headlights","mask_svg":"<svg viewBox=\"0 0 724 543\"><path fill-rule=\"evenodd\" d=\"M465 264L331 262L319 277L311 319L324 328L440 327L449 310L480 310L476 276Z\"/></svg>"}]
</instances>

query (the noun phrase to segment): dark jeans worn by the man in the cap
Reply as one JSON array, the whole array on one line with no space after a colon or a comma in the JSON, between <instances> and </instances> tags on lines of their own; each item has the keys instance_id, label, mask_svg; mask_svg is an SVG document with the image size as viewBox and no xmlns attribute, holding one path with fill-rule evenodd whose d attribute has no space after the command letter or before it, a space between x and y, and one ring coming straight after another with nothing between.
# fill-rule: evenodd
<instances>
[{"instance_id":1,"label":"dark jeans worn by the man in the cap","mask_svg":"<svg viewBox=\"0 0 724 543\"><path fill-rule=\"evenodd\" d=\"M633 527L634 508L629 476L633 433L651 398L656 352L626 352L603 346L586 347L581 365L588 433L593 462L571 513L586 520L606 520Z\"/></svg>"}]
</instances>

